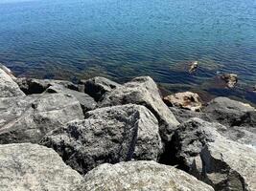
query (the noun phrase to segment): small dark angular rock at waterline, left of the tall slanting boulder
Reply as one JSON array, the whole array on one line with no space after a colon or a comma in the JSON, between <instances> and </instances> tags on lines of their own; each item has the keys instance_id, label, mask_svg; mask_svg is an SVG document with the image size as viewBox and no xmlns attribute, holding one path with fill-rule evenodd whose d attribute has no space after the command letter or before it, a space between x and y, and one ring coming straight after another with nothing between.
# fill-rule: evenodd
<instances>
[{"instance_id":1,"label":"small dark angular rock at waterline, left of the tall slanting boulder","mask_svg":"<svg viewBox=\"0 0 256 191\"><path fill-rule=\"evenodd\" d=\"M96 101L99 101L105 93L111 92L120 85L105 77L94 77L88 80L80 81L80 91L92 96Z\"/></svg>"}]
</instances>

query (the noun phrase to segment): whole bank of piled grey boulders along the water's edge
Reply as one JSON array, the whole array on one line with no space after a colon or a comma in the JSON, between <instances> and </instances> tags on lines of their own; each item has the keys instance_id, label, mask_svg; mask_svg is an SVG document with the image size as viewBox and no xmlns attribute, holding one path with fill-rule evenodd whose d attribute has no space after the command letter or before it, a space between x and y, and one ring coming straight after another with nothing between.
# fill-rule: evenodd
<instances>
[{"instance_id":1,"label":"whole bank of piled grey boulders along the water's edge","mask_svg":"<svg viewBox=\"0 0 256 191\"><path fill-rule=\"evenodd\" d=\"M256 110L149 76L16 78L0 66L0 190L256 190Z\"/></svg>"}]
</instances>

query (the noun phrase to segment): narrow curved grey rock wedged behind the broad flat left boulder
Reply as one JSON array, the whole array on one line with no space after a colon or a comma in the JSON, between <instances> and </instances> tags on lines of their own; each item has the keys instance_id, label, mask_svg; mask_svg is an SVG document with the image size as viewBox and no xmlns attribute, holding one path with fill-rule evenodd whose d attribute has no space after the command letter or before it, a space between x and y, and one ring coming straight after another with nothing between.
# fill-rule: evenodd
<instances>
[{"instance_id":1,"label":"narrow curved grey rock wedged behind the broad flat left boulder","mask_svg":"<svg viewBox=\"0 0 256 191\"><path fill-rule=\"evenodd\" d=\"M86 95L85 93L81 93L78 91L70 90L68 88L63 87L62 85L53 85L50 86L47 90L47 93L62 93L69 94L75 96L80 104L83 114L90 110L94 110L96 108L97 102L91 96Z\"/></svg>"}]
</instances>

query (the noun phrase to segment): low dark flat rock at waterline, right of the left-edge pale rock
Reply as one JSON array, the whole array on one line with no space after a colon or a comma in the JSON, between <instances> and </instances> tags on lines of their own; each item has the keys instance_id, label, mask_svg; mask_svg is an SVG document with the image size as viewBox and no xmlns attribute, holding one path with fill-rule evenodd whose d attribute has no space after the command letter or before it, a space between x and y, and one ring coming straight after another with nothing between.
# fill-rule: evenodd
<instances>
[{"instance_id":1,"label":"low dark flat rock at waterline, right of the left-edge pale rock","mask_svg":"<svg viewBox=\"0 0 256 191\"><path fill-rule=\"evenodd\" d=\"M78 91L78 86L70 81L55 79L16 78L16 83L26 95L41 94L47 88L54 85L61 85L67 89Z\"/></svg>"}]
</instances>

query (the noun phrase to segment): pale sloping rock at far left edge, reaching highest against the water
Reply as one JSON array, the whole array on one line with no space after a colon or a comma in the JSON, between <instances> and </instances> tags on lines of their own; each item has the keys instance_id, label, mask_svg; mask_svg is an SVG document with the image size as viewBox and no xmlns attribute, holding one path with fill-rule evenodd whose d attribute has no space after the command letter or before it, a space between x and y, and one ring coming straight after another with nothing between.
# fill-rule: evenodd
<instances>
[{"instance_id":1,"label":"pale sloping rock at far left edge, reaching highest against the water","mask_svg":"<svg viewBox=\"0 0 256 191\"><path fill-rule=\"evenodd\" d=\"M1 67L2 68L2 67ZM13 81L12 75L0 68L0 97L25 96L19 89L18 85Z\"/></svg>"}]
</instances>

